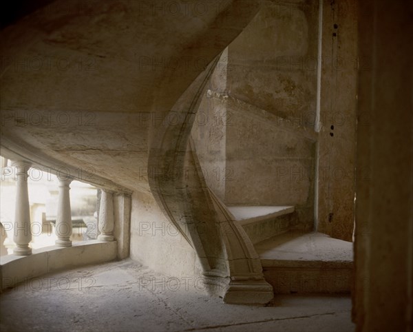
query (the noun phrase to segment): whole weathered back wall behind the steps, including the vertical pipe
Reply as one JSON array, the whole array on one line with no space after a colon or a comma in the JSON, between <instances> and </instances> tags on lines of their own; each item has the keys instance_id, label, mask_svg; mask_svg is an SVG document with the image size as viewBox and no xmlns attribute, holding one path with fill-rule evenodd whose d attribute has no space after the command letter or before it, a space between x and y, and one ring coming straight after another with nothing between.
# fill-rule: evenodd
<instances>
[{"instance_id":1,"label":"whole weathered back wall behind the steps, including the vertical pipe","mask_svg":"<svg viewBox=\"0 0 413 332\"><path fill-rule=\"evenodd\" d=\"M354 1L270 3L222 54L193 137L227 205L294 205L304 229L352 240L355 27Z\"/></svg>"}]
</instances>

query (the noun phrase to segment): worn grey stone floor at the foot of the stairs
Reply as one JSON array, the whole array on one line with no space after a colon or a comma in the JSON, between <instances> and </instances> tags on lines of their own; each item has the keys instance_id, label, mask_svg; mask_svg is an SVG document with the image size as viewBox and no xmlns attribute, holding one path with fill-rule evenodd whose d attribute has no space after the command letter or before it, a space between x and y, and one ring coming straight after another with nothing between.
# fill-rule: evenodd
<instances>
[{"instance_id":1,"label":"worn grey stone floor at the foot of the stairs","mask_svg":"<svg viewBox=\"0 0 413 332\"><path fill-rule=\"evenodd\" d=\"M279 295L251 307L203 288L132 260L72 269L2 293L0 331L354 331L349 296Z\"/></svg>"}]
</instances>

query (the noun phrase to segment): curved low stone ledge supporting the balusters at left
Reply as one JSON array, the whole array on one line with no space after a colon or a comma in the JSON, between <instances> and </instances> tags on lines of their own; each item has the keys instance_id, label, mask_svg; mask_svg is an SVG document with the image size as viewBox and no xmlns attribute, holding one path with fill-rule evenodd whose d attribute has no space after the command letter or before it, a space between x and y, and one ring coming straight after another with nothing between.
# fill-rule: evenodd
<instances>
[{"instance_id":1,"label":"curved low stone ledge supporting the balusters at left","mask_svg":"<svg viewBox=\"0 0 413 332\"><path fill-rule=\"evenodd\" d=\"M45 273L70 269L87 264L98 264L116 259L116 241L98 240L75 242L72 247L34 249L32 255L8 255L0 258L0 289Z\"/></svg>"}]
</instances>

